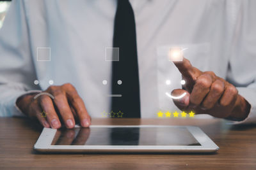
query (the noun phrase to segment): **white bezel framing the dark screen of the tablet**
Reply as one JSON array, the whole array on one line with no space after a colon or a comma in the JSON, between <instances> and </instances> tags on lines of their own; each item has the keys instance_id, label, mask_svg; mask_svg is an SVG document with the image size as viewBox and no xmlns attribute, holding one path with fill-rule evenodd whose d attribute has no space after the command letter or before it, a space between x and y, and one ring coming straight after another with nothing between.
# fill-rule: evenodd
<instances>
[{"instance_id":1,"label":"white bezel framing the dark screen of the tablet","mask_svg":"<svg viewBox=\"0 0 256 170\"><path fill-rule=\"evenodd\" d=\"M76 125L76 127L79 127ZM40 152L216 152L219 147L195 126L174 125L91 125L90 127L186 127L201 146L131 146L131 145L51 145L57 129L44 128L34 149Z\"/></svg>"}]
</instances>

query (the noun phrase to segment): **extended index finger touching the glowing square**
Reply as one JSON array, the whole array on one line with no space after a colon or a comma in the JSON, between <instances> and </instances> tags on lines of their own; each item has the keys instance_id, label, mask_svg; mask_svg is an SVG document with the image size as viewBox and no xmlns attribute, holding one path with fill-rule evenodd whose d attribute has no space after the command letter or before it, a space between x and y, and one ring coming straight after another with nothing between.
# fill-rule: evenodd
<instances>
[{"instance_id":1,"label":"extended index finger touching the glowing square","mask_svg":"<svg viewBox=\"0 0 256 170\"><path fill-rule=\"evenodd\" d=\"M200 74L202 74L202 71L197 69L196 67L193 67L188 59L183 57L182 61L173 61L177 69L179 69L182 76L185 78L188 78L189 80L195 81Z\"/></svg>"}]
</instances>

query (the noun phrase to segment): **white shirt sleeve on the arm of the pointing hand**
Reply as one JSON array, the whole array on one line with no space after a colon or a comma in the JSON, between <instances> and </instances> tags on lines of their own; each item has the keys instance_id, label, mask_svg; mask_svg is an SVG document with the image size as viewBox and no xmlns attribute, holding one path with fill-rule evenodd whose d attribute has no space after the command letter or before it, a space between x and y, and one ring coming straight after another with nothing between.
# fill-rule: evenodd
<instances>
[{"instance_id":1,"label":"white shirt sleeve on the arm of the pointing hand","mask_svg":"<svg viewBox=\"0 0 256 170\"><path fill-rule=\"evenodd\" d=\"M256 1L237 6L232 53L227 79L251 105L248 117L241 123L256 123Z\"/></svg>"}]
</instances>

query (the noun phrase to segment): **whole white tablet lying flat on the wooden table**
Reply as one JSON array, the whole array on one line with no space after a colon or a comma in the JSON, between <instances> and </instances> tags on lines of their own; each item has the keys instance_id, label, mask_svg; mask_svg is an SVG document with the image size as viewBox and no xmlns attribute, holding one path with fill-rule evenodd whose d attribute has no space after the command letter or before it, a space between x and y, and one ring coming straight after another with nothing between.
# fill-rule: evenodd
<instances>
[{"instance_id":1,"label":"whole white tablet lying flat on the wooden table","mask_svg":"<svg viewBox=\"0 0 256 170\"><path fill-rule=\"evenodd\" d=\"M44 128L34 146L40 152L216 152L199 128L169 125L91 125Z\"/></svg>"}]
</instances>

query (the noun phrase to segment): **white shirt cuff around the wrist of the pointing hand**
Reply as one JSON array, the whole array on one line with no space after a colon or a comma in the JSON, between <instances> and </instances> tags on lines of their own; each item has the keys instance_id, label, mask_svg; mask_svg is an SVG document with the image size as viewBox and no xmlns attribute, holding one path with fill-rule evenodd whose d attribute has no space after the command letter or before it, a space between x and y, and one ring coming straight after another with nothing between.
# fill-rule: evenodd
<instances>
[{"instance_id":1,"label":"white shirt cuff around the wrist of the pointing hand","mask_svg":"<svg viewBox=\"0 0 256 170\"><path fill-rule=\"evenodd\" d=\"M242 121L230 121L230 124L252 124L256 123L256 89L247 87L237 87L237 90L241 96L251 105L248 117Z\"/></svg>"}]
</instances>

